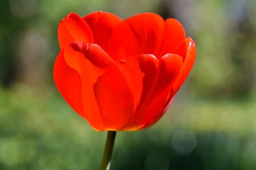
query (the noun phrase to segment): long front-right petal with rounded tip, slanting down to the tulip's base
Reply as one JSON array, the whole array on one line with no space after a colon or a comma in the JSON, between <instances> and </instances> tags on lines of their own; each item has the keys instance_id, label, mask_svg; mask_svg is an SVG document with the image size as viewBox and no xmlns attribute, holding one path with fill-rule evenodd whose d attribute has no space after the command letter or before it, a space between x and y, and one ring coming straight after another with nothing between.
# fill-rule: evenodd
<instances>
[{"instance_id":1,"label":"long front-right petal with rounded tip, slanting down to the tulip's base","mask_svg":"<svg viewBox=\"0 0 256 170\"><path fill-rule=\"evenodd\" d=\"M158 73L152 84L143 84L143 87L151 86L146 98L142 98L142 104L138 106L135 117L131 121L129 130L139 130L149 124L160 114L168 100L168 94L175 82L182 66L182 58L176 54L167 54L159 61Z\"/></svg>"}]
</instances>

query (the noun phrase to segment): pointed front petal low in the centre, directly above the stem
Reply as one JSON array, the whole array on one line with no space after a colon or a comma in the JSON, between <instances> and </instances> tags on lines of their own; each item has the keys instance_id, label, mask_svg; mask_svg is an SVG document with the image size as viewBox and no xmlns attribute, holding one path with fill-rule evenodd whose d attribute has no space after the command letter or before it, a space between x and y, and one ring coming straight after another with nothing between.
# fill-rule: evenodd
<instances>
[{"instance_id":1,"label":"pointed front petal low in the centre, directly above the stem","mask_svg":"<svg viewBox=\"0 0 256 170\"><path fill-rule=\"evenodd\" d=\"M133 94L115 65L94 84L94 94L100 108L105 130L122 130L133 114Z\"/></svg>"}]
</instances>

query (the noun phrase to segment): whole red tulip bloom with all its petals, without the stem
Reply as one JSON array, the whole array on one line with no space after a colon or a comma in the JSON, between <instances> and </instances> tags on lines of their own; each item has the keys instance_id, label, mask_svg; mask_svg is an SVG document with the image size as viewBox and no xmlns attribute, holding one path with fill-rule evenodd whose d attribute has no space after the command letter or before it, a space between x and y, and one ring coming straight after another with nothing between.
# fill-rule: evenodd
<instances>
[{"instance_id":1,"label":"whole red tulip bloom with all its petals, without the stem","mask_svg":"<svg viewBox=\"0 0 256 170\"><path fill-rule=\"evenodd\" d=\"M196 57L175 19L144 13L121 20L108 12L59 24L53 76L60 94L92 128L133 131L154 125Z\"/></svg>"}]
</instances>

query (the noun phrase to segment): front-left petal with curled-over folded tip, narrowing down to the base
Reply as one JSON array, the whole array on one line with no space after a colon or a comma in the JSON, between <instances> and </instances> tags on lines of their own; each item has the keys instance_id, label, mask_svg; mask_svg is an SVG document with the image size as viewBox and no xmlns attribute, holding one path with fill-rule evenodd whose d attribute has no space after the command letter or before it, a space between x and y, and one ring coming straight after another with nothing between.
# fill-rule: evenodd
<instances>
[{"instance_id":1,"label":"front-left petal with curled-over folded tip, narrowing down to the base","mask_svg":"<svg viewBox=\"0 0 256 170\"><path fill-rule=\"evenodd\" d=\"M82 117L96 130L104 130L100 108L93 92L93 84L114 65L114 61L95 44L74 41L64 49L64 59L69 67L76 70L81 79ZM69 87L72 88L72 87Z\"/></svg>"}]
</instances>

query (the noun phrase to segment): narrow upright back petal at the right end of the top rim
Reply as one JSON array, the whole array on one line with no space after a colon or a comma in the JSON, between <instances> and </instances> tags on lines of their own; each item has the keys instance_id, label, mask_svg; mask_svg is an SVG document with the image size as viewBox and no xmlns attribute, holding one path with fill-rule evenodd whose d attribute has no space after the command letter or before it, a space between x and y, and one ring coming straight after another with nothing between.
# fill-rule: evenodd
<instances>
[{"instance_id":1,"label":"narrow upright back petal at the right end of the top rim","mask_svg":"<svg viewBox=\"0 0 256 170\"><path fill-rule=\"evenodd\" d=\"M164 23L164 38L159 57L165 54L177 54L185 59L186 44L185 31L182 25L176 19L167 19ZM159 58L158 57L158 58Z\"/></svg>"}]
</instances>

